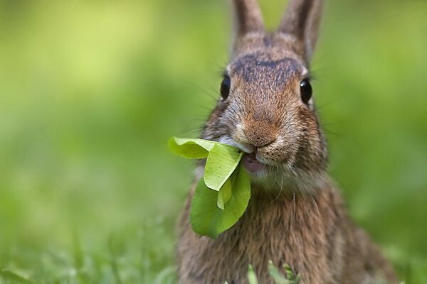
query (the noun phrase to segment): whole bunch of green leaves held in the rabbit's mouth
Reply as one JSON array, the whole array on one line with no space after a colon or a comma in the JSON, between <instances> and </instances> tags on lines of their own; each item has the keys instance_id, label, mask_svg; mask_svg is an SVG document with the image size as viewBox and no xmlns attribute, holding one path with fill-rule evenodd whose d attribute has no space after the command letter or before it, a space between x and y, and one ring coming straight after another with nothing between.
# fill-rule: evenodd
<instances>
[{"instance_id":1,"label":"whole bunch of green leaves held in the rabbit's mouth","mask_svg":"<svg viewBox=\"0 0 427 284\"><path fill-rule=\"evenodd\" d=\"M236 147L202 139L169 139L172 152L184 158L207 158L204 178L191 201L190 222L197 234L216 238L238 222L251 197L248 173L238 167L243 153Z\"/></svg>"}]
</instances>

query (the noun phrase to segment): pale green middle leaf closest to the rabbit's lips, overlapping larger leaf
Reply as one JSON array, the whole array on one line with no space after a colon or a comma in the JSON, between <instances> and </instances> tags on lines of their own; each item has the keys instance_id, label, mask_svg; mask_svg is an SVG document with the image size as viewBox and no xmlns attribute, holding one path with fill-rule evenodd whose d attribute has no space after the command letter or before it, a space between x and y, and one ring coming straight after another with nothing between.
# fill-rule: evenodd
<instances>
[{"instance_id":1,"label":"pale green middle leaf closest to the rabbit's lips, overlapping larger leaf","mask_svg":"<svg viewBox=\"0 0 427 284\"><path fill-rule=\"evenodd\" d=\"M220 190L241 160L243 152L238 148L216 144L206 160L204 182L212 190Z\"/></svg>"}]
</instances>

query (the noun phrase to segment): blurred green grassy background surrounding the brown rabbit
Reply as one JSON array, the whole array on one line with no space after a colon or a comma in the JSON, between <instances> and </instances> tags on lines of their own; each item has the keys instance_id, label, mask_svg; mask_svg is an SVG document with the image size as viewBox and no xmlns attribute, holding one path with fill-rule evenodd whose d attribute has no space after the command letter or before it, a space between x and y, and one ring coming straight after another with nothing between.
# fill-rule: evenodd
<instances>
[{"instance_id":1,"label":"blurred green grassy background surrounding the brown rabbit","mask_svg":"<svg viewBox=\"0 0 427 284\"><path fill-rule=\"evenodd\" d=\"M260 3L275 27L285 1ZM0 0L0 283L174 283L194 165L165 144L198 135L230 36L226 1ZM312 65L330 173L406 283L427 283L426 51L427 1L330 0Z\"/></svg>"}]
</instances>

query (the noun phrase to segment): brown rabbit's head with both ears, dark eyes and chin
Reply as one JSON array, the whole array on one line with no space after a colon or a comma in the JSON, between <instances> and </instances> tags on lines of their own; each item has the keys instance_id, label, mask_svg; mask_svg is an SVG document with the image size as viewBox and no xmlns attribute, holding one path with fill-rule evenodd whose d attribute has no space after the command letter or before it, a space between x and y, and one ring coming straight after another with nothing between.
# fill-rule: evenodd
<instances>
[{"instance_id":1,"label":"brown rabbit's head with both ears, dark eyes and chin","mask_svg":"<svg viewBox=\"0 0 427 284\"><path fill-rule=\"evenodd\" d=\"M322 0L290 0L274 33L265 31L256 0L233 0L233 6L231 62L202 136L246 152L254 184L315 189L325 180L327 147L308 65Z\"/></svg>"}]
</instances>

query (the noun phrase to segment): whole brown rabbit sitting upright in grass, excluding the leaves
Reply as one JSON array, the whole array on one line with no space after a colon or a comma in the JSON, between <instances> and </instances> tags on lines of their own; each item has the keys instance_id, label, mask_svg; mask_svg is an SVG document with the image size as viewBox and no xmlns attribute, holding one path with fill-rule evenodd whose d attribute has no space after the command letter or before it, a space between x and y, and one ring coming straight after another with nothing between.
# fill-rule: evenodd
<instances>
[{"instance_id":1,"label":"whole brown rabbit sitting upright in grass, excluding the leaves","mask_svg":"<svg viewBox=\"0 0 427 284\"><path fill-rule=\"evenodd\" d=\"M233 0L233 6L231 62L202 138L246 152L252 195L237 224L210 239L189 225L191 187L179 221L179 283L248 283L250 263L259 283L273 283L269 260L290 264L305 284L397 283L327 176L308 68L322 0L290 0L275 33L265 31L256 0ZM201 163L196 180L202 173Z\"/></svg>"}]
</instances>

